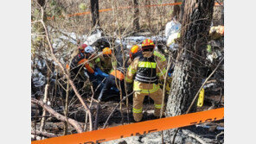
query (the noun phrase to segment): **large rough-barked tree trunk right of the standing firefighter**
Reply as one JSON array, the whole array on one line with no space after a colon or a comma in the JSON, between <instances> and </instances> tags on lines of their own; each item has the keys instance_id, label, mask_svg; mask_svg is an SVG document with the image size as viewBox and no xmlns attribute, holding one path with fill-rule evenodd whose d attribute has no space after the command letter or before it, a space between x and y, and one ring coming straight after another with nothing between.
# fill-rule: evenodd
<instances>
[{"instance_id":1,"label":"large rough-barked tree trunk right of the standing firefighter","mask_svg":"<svg viewBox=\"0 0 256 144\"><path fill-rule=\"evenodd\" d=\"M183 0L182 8L181 41L166 107L167 116L184 114L202 84L203 58L214 0ZM190 111L195 111L195 104Z\"/></svg>"}]
</instances>

